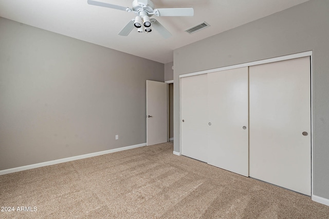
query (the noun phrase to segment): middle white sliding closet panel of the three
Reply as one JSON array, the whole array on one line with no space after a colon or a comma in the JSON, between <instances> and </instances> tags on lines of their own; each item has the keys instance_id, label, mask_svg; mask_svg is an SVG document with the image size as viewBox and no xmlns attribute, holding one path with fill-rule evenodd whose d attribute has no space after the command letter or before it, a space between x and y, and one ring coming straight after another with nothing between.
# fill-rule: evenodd
<instances>
[{"instance_id":1,"label":"middle white sliding closet panel of the three","mask_svg":"<svg viewBox=\"0 0 329 219\"><path fill-rule=\"evenodd\" d=\"M248 67L208 73L208 164L248 176Z\"/></svg>"}]
</instances>

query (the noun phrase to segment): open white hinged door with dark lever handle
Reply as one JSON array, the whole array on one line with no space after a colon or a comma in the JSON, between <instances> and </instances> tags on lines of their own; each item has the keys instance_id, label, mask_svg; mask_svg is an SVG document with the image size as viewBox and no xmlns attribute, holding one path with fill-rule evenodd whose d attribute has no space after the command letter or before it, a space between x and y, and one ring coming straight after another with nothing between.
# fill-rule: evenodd
<instances>
[{"instance_id":1,"label":"open white hinged door with dark lever handle","mask_svg":"<svg viewBox=\"0 0 329 219\"><path fill-rule=\"evenodd\" d=\"M167 84L146 81L147 145L167 142Z\"/></svg>"}]
</instances>

